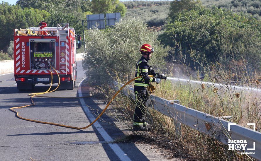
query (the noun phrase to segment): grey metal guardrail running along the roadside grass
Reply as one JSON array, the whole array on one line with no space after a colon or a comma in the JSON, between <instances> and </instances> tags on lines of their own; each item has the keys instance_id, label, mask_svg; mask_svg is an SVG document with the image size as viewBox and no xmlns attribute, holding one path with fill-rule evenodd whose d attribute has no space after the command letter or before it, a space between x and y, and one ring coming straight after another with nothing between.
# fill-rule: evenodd
<instances>
[{"instance_id":1,"label":"grey metal guardrail running along the roadside grass","mask_svg":"<svg viewBox=\"0 0 261 161\"><path fill-rule=\"evenodd\" d=\"M112 88L118 90L123 84L114 81L111 85ZM122 93L135 99L134 89L131 86L126 86ZM232 140L246 140L246 147L244 152L255 153L248 154L249 156L261 160L261 133L253 131L240 125L228 125L230 121L223 120L204 112L197 111L173 101L165 100L163 98L150 95L150 100L146 105L152 107L158 112L191 127L201 133L205 133L223 144L228 145L228 139ZM151 106L152 105L152 106ZM230 128L228 130L228 127ZM230 136L230 137L229 137ZM231 143L230 143L231 144ZM240 143L235 143L240 144ZM243 144L243 143L242 143ZM250 150L255 146L255 150ZM247 150L248 149L248 150Z\"/></svg>"}]
</instances>

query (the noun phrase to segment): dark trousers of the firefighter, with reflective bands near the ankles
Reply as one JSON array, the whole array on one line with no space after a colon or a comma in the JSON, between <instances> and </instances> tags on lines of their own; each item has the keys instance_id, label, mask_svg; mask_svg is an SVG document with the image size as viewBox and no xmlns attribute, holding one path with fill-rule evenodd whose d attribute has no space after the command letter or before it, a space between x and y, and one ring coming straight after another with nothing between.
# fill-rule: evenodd
<instances>
[{"instance_id":1,"label":"dark trousers of the firefighter, with reflective bands near the ankles","mask_svg":"<svg viewBox=\"0 0 261 161\"><path fill-rule=\"evenodd\" d=\"M149 97L149 93L147 89L136 89L134 88L135 96L136 96L136 107L135 113L133 115L133 122L135 123L145 123L145 115L146 115L146 102ZM136 124L137 125L137 124Z\"/></svg>"}]
</instances>

